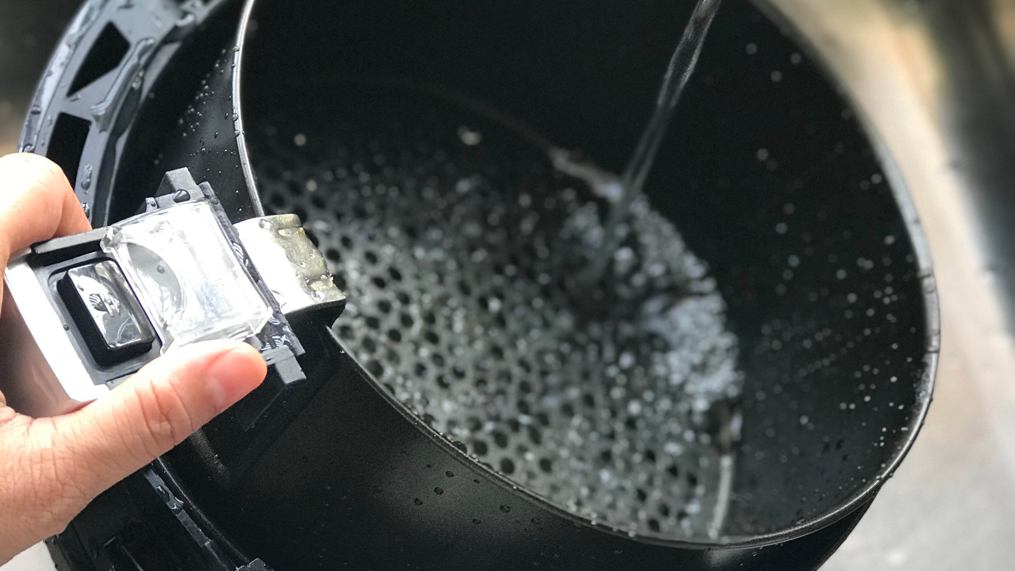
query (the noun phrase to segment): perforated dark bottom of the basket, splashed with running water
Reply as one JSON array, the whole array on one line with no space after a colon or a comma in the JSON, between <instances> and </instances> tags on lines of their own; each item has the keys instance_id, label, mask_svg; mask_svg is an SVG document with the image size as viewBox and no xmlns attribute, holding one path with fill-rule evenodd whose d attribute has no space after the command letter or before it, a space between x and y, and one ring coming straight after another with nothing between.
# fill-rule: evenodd
<instances>
[{"instance_id":1,"label":"perforated dark bottom of the basket, splashed with running water","mask_svg":"<svg viewBox=\"0 0 1015 571\"><path fill-rule=\"evenodd\" d=\"M705 265L640 201L607 274L576 288L604 205L503 129L420 107L249 129L266 207L303 218L349 296L345 347L550 502L632 534L715 537L741 374Z\"/></svg>"}]
</instances>

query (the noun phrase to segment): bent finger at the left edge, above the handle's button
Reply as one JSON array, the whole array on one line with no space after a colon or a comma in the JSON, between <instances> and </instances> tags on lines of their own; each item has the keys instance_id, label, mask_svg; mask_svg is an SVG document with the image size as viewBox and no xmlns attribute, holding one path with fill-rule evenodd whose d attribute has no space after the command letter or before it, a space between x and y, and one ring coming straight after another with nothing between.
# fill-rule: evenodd
<instances>
[{"instance_id":1,"label":"bent finger at the left edge, above the handle's button","mask_svg":"<svg viewBox=\"0 0 1015 571\"><path fill-rule=\"evenodd\" d=\"M91 230L63 171L45 156L0 157L0 267L36 242Z\"/></svg>"}]
</instances>

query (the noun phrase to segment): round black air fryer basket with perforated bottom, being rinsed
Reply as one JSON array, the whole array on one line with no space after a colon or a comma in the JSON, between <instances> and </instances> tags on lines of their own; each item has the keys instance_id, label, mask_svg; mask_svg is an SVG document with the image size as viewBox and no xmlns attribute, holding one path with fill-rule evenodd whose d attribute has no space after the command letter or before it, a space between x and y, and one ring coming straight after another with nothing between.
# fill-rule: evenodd
<instances>
[{"instance_id":1,"label":"round black air fryer basket with perforated bottom, being rinsed","mask_svg":"<svg viewBox=\"0 0 1015 571\"><path fill-rule=\"evenodd\" d=\"M595 200L540 145L619 171L689 5L261 0L233 49L223 4L152 80L168 97L141 99L108 193L77 188L103 224L170 169L238 218L256 185L349 295L285 414L261 423L276 401L255 395L160 464L234 560L807 569L834 550L923 422L936 300L902 182L792 33L722 8L637 247L576 292L553 240ZM657 336L706 339L697 370L725 384L637 372L659 357L646 275L680 310Z\"/></svg>"}]
</instances>

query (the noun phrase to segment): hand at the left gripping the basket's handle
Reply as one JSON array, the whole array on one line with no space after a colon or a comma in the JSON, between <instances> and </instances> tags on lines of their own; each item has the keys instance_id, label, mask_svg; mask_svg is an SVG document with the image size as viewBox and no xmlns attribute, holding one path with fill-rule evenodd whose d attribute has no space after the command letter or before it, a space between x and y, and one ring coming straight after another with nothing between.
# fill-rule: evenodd
<instances>
[{"instance_id":1,"label":"hand at the left gripping the basket's handle","mask_svg":"<svg viewBox=\"0 0 1015 571\"><path fill-rule=\"evenodd\" d=\"M90 229L59 167L36 154L0 157L0 270L12 252ZM70 415L25 417L0 394L0 565L62 531L95 496L240 400L266 373L251 345L208 341L153 361Z\"/></svg>"}]
</instances>

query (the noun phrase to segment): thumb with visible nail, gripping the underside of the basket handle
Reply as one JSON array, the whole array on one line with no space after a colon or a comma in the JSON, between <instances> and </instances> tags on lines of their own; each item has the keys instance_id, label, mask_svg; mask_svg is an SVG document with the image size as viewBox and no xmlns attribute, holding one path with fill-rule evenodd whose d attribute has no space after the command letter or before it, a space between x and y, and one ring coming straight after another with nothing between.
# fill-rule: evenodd
<instances>
[{"instance_id":1,"label":"thumb with visible nail, gripping the underside of the basket handle","mask_svg":"<svg viewBox=\"0 0 1015 571\"><path fill-rule=\"evenodd\" d=\"M207 341L149 363L109 396L54 419L65 479L89 499L182 442L267 374L256 348Z\"/></svg>"}]
</instances>

